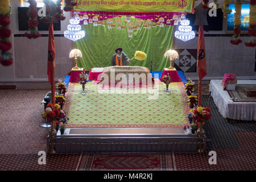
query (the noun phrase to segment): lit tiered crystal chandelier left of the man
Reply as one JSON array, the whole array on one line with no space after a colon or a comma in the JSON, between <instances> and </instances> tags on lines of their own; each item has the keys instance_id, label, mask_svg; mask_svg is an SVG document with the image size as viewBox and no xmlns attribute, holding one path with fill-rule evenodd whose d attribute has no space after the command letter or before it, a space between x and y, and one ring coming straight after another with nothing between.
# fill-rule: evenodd
<instances>
[{"instance_id":1,"label":"lit tiered crystal chandelier left of the man","mask_svg":"<svg viewBox=\"0 0 256 182\"><path fill-rule=\"evenodd\" d=\"M85 31L81 30L81 25L79 24L79 19L70 19L68 30L64 31L65 38L73 40L73 42L76 42L77 40L84 38Z\"/></svg>"}]
</instances>

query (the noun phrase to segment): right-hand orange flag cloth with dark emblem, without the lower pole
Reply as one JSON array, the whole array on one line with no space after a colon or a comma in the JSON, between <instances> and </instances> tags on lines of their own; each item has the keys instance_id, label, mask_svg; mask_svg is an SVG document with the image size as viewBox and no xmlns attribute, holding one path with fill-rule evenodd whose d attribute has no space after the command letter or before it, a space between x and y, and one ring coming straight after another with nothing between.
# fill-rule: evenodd
<instances>
[{"instance_id":1,"label":"right-hand orange flag cloth with dark emblem, without the lower pole","mask_svg":"<svg viewBox=\"0 0 256 182\"><path fill-rule=\"evenodd\" d=\"M199 78L203 78L205 75L207 75L203 26L199 26L197 68L199 72Z\"/></svg>"}]
</instances>

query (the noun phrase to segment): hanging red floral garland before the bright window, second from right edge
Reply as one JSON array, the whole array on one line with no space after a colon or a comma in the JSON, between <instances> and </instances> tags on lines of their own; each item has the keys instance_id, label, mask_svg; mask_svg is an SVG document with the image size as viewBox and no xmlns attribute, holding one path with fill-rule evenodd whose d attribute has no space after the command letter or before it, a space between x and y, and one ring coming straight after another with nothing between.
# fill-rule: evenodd
<instances>
[{"instance_id":1,"label":"hanging red floral garland before the bright window, second from right edge","mask_svg":"<svg viewBox=\"0 0 256 182\"><path fill-rule=\"evenodd\" d=\"M230 43L234 45L238 45L242 43L242 40L240 39L240 26L241 26L241 7L242 3L241 1L236 1L235 3L235 9L236 13L234 14L234 35L233 35L233 40L230 40Z\"/></svg>"}]
</instances>

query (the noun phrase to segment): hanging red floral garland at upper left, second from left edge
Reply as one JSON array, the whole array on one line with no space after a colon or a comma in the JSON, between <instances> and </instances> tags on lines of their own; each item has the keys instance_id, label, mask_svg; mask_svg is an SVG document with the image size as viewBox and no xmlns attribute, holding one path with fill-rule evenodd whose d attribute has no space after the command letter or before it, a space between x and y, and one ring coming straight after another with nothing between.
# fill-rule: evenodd
<instances>
[{"instance_id":1,"label":"hanging red floral garland at upper left, second from left edge","mask_svg":"<svg viewBox=\"0 0 256 182\"><path fill-rule=\"evenodd\" d=\"M36 10L36 1L35 0L29 0L28 3L30 3L30 9L28 9L27 14L28 14L28 30L30 33L28 34L25 32L25 36L28 39L36 39L41 36L41 34L38 32L38 10Z\"/></svg>"}]
</instances>

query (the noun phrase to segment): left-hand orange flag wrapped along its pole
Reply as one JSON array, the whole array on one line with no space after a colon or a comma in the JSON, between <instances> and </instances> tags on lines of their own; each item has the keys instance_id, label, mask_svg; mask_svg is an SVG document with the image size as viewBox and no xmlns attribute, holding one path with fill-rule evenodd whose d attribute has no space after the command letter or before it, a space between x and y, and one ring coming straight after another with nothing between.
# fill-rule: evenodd
<instances>
[{"instance_id":1,"label":"left-hand orange flag wrapped along its pole","mask_svg":"<svg viewBox=\"0 0 256 182\"><path fill-rule=\"evenodd\" d=\"M48 81L51 84L52 104L55 104L55 81L54 81L55 62L54 60L55 60L55 43L54 43L54 35L53 35L53 24L49 23L47 75L48 75Z\"/></svg>"}]
</instances>

